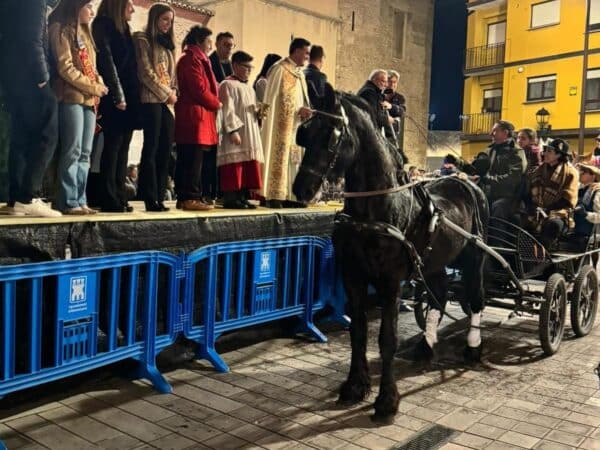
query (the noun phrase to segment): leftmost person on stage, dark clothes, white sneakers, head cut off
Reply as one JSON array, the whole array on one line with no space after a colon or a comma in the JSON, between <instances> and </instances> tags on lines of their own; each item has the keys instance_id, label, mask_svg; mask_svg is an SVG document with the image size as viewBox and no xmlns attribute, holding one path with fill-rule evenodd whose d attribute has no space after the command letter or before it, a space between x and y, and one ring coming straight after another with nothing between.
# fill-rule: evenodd
<instances>
[{"instance_id":1,"label":"leftmost person on stage, dark clothes, white sneakers, head cut off","mask_svg":"<svg viewBox=\"0 0 600 450\"><path fill-rule=\"evenodd\" d=\"M48 81L46 0L4 0L0 83L11 114L5 214L55 217L39 191L58 141L58 107Z\"/></svg>"}]
</instances>

